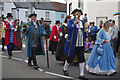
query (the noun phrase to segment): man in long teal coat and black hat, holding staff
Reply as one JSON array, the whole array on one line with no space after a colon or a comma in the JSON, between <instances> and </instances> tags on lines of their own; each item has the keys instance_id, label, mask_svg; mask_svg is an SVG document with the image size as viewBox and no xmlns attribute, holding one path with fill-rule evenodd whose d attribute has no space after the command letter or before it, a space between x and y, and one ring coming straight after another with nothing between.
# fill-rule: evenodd
<instances>
[{"instance_id":1,"label":"man in long teal coat and black hat, holding staff","mask_svg":"<svg viewBox=\"0 0 120 80\"><path fill-rule=\"evenodd\" d=\"M39 25L37 14L33 13L29 15L31 21L27 23L25 28L23 25L23 32L26 34L26 46L25 55L28 57L28 66L33 66L34 69L38 69L36 55L45 55L42 36L46 34L45 30ZM33 61L33 65L32 62Z\"/></svg>"}]
</instances>

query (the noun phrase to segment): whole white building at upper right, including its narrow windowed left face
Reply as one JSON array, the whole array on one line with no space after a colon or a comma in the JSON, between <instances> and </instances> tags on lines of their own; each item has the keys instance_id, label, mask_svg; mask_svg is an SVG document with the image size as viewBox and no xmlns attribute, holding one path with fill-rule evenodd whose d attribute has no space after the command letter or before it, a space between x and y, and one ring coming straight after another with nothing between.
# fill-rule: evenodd
<instances>
[{"instance_id":1,"label":"whole white building at upper right, including its narrow windowed left face","mask_svg":"<svg viewBox=\"0 0 120 80\"><path fill-rule=\"evenodd\" d=\"M66 0L67 14L70 14L75 8L81 8L88 15L88 22L95 22L98 26L100 20L113 19L116 25L120 27L119 16L113 16L120 12L120 0ZM79 7L80 5L80 7ZM120 30L120 28L119 28Z\"/></svg>"}]
</instances>

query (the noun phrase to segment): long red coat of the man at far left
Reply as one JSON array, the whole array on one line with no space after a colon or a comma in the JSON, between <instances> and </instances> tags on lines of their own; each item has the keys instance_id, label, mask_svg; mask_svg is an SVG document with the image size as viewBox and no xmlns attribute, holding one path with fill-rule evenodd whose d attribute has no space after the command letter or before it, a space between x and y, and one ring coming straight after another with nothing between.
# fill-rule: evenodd
<instances>
[{"instance_id":1,"label":"long red coat of the man at far left","mask_svg":"<svg viewBox=\"0 0 120 80\"><path fill-rule=\"evenodd\" d=\"M14 28L16 27L15 23L12 22ZM5 45L7 46L9 44L9 40L10 40L10 31L11 31L11 28L10 28L10 23L8 23L8 21L5 21L5 25L6 25L6 28L5 28ZM14 44L17 45L17 41L16 41L16 32L14 32Z\"/></svg>"}]
</instances>

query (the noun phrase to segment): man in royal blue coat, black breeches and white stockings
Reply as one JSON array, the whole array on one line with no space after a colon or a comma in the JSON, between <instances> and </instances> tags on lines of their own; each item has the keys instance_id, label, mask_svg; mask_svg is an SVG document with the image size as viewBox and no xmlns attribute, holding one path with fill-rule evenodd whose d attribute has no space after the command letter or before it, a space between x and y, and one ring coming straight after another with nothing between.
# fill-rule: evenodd
<instances>
[{"instance_id":1,"label":"man in royal blue coat, black breeches and white stockings","mask_svg":"<svg viewBox=\"0 0 120 80\"><path fill-rule=\"evenodd\" d=\"M67 24L68 37L64 48L64 54L68 57L65 61L63 72L64 75L69 76L68 66L77 55L80 67L79 79L87 80L84 76L84 28L83 21L79 19L80 16L83 15L83 12L81 9L75 9L71 14L73 14L74 18L69 20Z\"/></svg>"}]
</instances>

